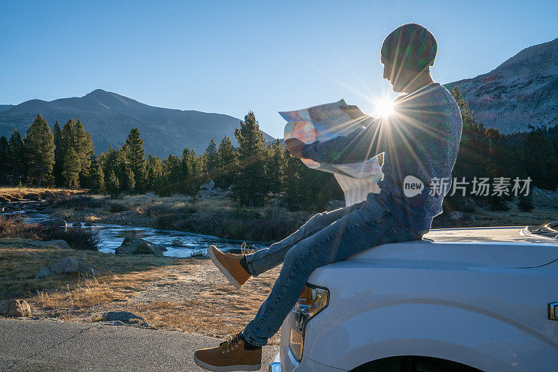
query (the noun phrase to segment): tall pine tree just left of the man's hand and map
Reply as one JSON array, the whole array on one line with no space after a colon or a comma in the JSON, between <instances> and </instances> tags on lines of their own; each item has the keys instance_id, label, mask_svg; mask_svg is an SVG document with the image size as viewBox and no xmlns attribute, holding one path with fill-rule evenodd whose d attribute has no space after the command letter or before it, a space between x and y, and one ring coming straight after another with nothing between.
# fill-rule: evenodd
<instances>
[{"instance_id":1,"label":"tall pine tree just left of the man's hand and map","mask_svg":"<svg viewBox=\"0 0 558 372\"><path fill-rule=\"evenodd\" d=\"M239 171L234 180L234 195L243 206L261 206L269 187L266 183L266 144L252 111L234 131L238 142Z\"/></svg>"}]
</instances>

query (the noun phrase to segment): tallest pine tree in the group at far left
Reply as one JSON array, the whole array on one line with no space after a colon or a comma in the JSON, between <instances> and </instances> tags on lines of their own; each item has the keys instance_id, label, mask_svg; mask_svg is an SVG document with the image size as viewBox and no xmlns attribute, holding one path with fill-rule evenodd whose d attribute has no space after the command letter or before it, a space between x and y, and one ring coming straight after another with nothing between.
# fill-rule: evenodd
<instances>
[{"instance_id":1,"label":"tallest pine tree in the group at far left","mask_svg":"<svg viewBox=\"0 0 558 372\"><path fill-rule=\"evenodd\" d=\"M38 114L23 138L27 159L27 176L36 185L52 179L54 166L54 136L47 121Z\"/></svg>"}]
</instances>

